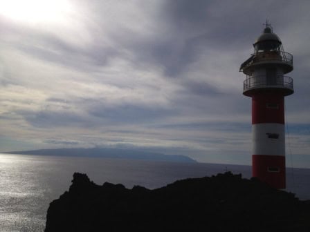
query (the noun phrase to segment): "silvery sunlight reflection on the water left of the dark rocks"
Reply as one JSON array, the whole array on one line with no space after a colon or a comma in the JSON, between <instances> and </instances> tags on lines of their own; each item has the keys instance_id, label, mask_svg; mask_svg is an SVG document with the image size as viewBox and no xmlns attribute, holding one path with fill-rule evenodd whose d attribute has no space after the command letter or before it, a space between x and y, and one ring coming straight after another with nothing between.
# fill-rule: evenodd
<instances>
[{"instance_id":1,"label":"silvery sunlight reflection on the water left of the dark rocks","mask_svg":"<svg viewBox=\"0 0 310 232\"><path fill-rule=\"evenodd\" d=\"M0 231L44 231L45 218L37 211L44 202L35 166L24 157L0 155Z\"/></svg>"}]
</instances>

